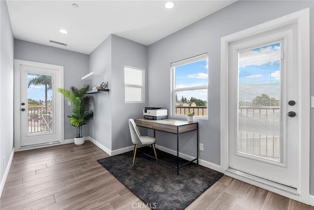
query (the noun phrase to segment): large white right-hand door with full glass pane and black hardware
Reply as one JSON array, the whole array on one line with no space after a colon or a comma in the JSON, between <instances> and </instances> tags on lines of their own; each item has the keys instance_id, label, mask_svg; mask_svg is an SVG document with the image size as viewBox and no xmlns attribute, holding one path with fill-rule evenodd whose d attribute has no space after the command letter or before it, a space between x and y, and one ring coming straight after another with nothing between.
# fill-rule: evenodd
<instances>
[{"instance_id":1,"label":"large white right-hand door with full glass pane and black hardware","mask_svg":"<svg viewBox=\"0 0 314 210\"><path fill-rule=\"evenodd\" d=\"M296 24L229 45L229 168L298 184Z\"/></svg>"}]
</instances>

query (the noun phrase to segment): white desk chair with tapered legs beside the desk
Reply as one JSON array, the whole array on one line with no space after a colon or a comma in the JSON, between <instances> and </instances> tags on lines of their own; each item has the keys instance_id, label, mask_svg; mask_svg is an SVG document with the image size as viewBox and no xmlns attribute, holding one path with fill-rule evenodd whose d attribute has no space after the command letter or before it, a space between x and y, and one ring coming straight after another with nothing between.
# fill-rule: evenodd
<instances>
[{"instance_id":1,"label":"white desk chair with tapered legs beside the desk","mask_svg":"<svg viewBox=\"0 0 314 210\"><path fill-rule=\"evenodd\" d=\"M150 136L141 136L133 119L129 119L129 126L130 126L132 143L134 144L134 152L133 152L134 156L133 156L132 166L134 166L134 162L135 162L137 145L152 145L152 148L154 150L155 157L157 160L157 154L156 154L156 149L155 149L156 139ZM158 160L157 160L157 163L158 163Z\"/></svg>"}]
</instances>

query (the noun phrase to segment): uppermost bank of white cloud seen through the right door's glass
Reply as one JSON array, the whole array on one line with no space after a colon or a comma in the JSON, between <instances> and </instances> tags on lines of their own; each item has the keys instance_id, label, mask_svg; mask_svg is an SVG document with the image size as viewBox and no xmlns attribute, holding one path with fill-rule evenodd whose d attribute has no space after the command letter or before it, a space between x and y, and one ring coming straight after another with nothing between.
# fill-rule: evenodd
<instances>
[{"instance_id":1,"label":"uppermost bank of white cloud seen through the right door's glass","mask_svg":"<svg viewBox=\"0 0 314 210\"><path fill-rule=\"evenodd\" d=\"M280 47L268 46L257 50L248 50L239 54L239 67L248 65L263 65L266 63L274 63L280 60Z\"/></svg>"}]
</instances>

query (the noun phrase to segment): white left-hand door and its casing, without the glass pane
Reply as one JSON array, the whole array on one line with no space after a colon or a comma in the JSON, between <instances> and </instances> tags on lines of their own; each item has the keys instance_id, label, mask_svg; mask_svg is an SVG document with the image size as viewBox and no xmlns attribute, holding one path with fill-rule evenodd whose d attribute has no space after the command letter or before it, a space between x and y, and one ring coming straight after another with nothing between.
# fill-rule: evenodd
<instances>
[{"instance_id":1,"label":"white left-hand door and its casing, without the glass pane","mask_svg":"<svg viewBox=\"0 0 314 210\"><path fill-rule=\"evenodd\" d=\"M52 117L49 132L29 132L29 115L27 103L27 75L48 75L52 78ZM52 144L62 143L64 140L64 108L62 94L57 88L63 88L63 66L31 62L26 60L14 60L14 143L15 150L34 149ZM24 105L22 105L24 103ZM25 109L22 111L22 109ZM47 114L47 113L46 113ZM47 128L49 121L41 116L43 124ZM37 128L38 130L38 128Z\"/></svg>"}]
</instances>

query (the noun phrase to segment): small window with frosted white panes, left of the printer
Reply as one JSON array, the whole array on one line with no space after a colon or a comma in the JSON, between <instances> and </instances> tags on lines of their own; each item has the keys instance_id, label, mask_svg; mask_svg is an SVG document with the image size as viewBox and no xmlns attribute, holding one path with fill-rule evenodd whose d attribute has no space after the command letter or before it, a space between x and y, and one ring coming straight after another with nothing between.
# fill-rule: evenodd
<instances>
[{"instance_id":1,"label":"small window with frosted white panes, left of the printer","mask_svg":"<svg viewBox=\"0 0 314 210\"><path fill-rule=\"evenodd\" d=\"M144 102L144 69L124 67L125 102Z\"/></svg>"}]
</instances>

